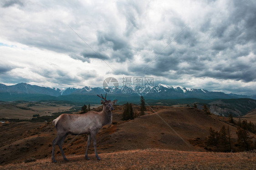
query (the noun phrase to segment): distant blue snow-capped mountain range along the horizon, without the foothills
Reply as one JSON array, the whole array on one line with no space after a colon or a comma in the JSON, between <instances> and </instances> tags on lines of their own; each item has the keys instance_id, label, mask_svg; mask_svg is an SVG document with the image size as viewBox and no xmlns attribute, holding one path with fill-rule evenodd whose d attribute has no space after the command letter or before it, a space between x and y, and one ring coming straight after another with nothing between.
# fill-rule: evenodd
<instances>
[{"instance_id":1,"label":"distant blue snow-capped mountain range along the horizon, without the foothills","mask_svg":"<svg viewBox=\"0 0 256 170\"><path fill-rule=\"evenodd\" d=\"M108 89L105 89L108 90ZM13 101L13 100L66 100L67 98L82 97L81 95L96 96L96 94L106 93L101 87L83 88L69 87L66 89L59 89L55 87L40 87L27 83L18 83L11 86L0 84L0 100ZM111 97L121 98L134 98L143 95L146 99L182 99L182 98L199 98L199 99L230 99L230 98L251 98L256 99L256 96L226 94L224 92L210 92L205 89L195 89L186 87L173 87L164 84L146 87L116 87L115 92L108 93ZM139 95L138 95L139 94ZM93 98L94 98L93 97ZM97 96L96 96L97 97ZM27 98L27 99L26 99ZM82 97L83 98L83 97ZM88 98L88 97L87 97ZM120 100L119 100L120 101Z\"/></svg>"}]
</instances>

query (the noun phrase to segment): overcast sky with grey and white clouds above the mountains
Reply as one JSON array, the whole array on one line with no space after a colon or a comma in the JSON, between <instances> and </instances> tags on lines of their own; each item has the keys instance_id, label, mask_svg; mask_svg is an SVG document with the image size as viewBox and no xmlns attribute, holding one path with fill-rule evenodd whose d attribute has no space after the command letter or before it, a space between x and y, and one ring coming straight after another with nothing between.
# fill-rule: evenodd
<instances>
[{"instance_id":1,"label":"overcast sky with grey and white clouds above the mountains","mask_svg":"<svg viewBox=\"0 0 256 170\"><path fill-rule=\"evenodd\" d=\"M102 87L108 77L154 77L256 95L255 0L1 0L0 16L6 85Z\"/></svg>"}]
</instances>

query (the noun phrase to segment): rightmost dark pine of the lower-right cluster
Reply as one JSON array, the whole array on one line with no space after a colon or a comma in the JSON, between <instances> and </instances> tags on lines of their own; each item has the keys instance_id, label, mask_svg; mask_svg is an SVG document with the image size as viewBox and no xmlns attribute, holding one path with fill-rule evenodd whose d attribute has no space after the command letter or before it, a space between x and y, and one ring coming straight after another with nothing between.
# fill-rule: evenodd
<instances>
[{"instance_id":1,"label":"rightmost dark pine of the lower-right cluster","mask_svg":"<svg viewBox=\"0 0 256 170\"><path fill-rule=\"evenodd\" d=\"M240 146L242 150L249 151L252 149L252 138L248 131L238 127L236 131L237 135L237 144Z\"/></svg>"}]
</instances>

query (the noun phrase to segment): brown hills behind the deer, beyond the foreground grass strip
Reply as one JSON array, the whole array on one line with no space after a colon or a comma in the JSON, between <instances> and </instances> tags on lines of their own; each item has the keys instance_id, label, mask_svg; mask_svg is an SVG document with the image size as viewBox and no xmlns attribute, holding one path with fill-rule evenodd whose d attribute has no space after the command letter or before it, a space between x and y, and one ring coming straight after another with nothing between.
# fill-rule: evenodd
<instances>
[{"instance_id":1,"label":"brown hills behind the deer, beyond the foreground grass strip","mask_svg":"<svg viewBox=\"0 0 256 170\"><path fill-rule=\"evenodd\" d=\"M134 112L138 112L138 106L133 107ZM152 106L147 109L147 115L130 121L122 121L123 106L115 106L114 124L104 126L97 134L98 153L113 153L118 157L120 151L132 153L130 151L133 150L160 149L191 151L197 154L198 151L205 151L204 143L205 137L209 135L209 127L219 131L223 125L230 127L233 147L236 150L234 146L236 127L225 123L228 120L225 117L206 115L201 110L191 107ZM101 110L101 107L95 110ZM1 126L0 163L15 164L31 158L50 160L51 142L55 137L56 129L51 122L19 122ZM87 135L68 135L64 141L63 150L67 156L84 155L86 141ZM118 153L115 154L116 152ZM89 154L93 153L94 149L91 146ZM56 156L60 155L56 147ZM205 156L207 157L207 154ZM150 157L151 160L153 158ZM61 159L59 157L57 161ZM108 157L104 159L108 160ZM179 159L179 157L174 159ZM134 165L137 165L139 160L133 161L136 161Z\"/></svg>"}]
</instances>

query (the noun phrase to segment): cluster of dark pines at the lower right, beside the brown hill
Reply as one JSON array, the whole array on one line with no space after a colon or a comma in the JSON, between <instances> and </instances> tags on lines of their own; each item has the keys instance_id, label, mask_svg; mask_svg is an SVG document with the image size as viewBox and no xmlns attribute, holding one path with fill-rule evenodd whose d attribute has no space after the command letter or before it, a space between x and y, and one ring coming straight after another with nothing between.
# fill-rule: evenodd
<instances>
[{"instance_id":1,"label":"cluster of dark pines at the lower right, beside the brown hill","mask_svg":"<svg viewBox=\"0 0 256 170\"><path fill-rule=\"evenodd\" d=\"M215 131L212 127L209 129L209 136L206 139L206 150L210 151L250 151L256 149L256 140L253 141L253 136L241 127L237 127L237 141L232 138L229 126L222 126L220 131ZM238 150L234 147L238 148Z\"/></svg>"}]
</instances>

